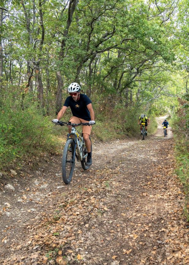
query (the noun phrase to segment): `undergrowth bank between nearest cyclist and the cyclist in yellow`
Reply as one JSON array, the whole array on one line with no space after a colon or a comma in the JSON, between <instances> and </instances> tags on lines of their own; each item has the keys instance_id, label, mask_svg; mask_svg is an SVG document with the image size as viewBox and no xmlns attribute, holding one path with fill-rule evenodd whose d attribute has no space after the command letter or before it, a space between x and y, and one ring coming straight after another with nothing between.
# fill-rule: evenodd
<instances>
[{"instance_id":1,"label":"undergrowth bank between nearest cyclist and the cyclist in yellow","mask_svg":"<svg viewBox=\"0 0 189 265\"><path fill-rule=\"evenodd\" d=\"M97 100L99 105L100 100ZM138 125L139 116L144 110L126 108L121 104L117 104L114 108L108 104L104 107L96 106L94 103L94 110L96 113L96 125L93 126L92 132L100 141L108 141L110 139L124 139L129 136L138 136L140 134L140 125ZM148 113L146 113L148 116ZM151 124L148 126L150 134L155 133L157 122L154 116L149 116Z\"/></svg>"}]
</instances>

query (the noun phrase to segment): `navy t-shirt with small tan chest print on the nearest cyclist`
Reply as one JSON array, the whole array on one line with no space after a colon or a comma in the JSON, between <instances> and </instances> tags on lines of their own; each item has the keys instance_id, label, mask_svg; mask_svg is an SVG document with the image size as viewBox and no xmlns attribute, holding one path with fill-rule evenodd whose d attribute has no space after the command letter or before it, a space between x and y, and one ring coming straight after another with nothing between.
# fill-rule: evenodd
<instances>
[{"instance_id":1,"label":"navy t-shirt with small tan chest print on the nearest cyclist","mask_svg":"<svg viewBox=\"0 0 189 265\"><path fill-rule=\"evenodd\" d=\"M67 97L64 106L71 108L73 116L89 121L91 120L91 116L87 105L90 103L92 101L87 95L80 94L80 98L77 101L73 100L72 96Z\"/></svg>"}]
</instances>

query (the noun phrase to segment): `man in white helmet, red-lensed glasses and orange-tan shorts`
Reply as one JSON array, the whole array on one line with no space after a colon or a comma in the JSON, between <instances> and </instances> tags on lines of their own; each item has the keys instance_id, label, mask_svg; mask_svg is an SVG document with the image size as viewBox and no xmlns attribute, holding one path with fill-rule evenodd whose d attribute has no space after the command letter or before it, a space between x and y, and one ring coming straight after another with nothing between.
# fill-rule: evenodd
<instances>
[{"instance_id":1,"label":"man in white helmet, red-lensed glasses and orange-tan shorts","mask_svg":"<svg viewBox=\"0 0 189 265\"><path fill-rule=\"evenodd\" d=\"M80 85L77 83L72 83L68 87L68 92L70 96L68 96L65 100L64 106L57 114L57 119L53 120L53 123L57 124L57 122L62 118L66 109L68 107L71 108L73 116L70 118L71 123L85 123L89 122L90 125L82 126L83 138L85 140L85 146L87 148L87 162L86 165L92 165L92 156L91 156L91 141L89 139L89 135L91 133L91 128L93 124L95 124L95 114L91 104L91 100L85 94L81 94ZM71 126L68 128L69 133L71 133Z\"/></svg>"}]
</instances>

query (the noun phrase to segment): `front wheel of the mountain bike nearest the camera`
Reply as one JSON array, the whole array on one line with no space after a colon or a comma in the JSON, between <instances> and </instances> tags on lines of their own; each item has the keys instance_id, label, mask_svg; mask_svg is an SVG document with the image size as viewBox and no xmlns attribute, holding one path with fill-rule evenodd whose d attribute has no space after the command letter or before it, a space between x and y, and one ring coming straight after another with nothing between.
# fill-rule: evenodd
<instances>
[{"instance_id":1,"label":"front wheel of the mountain bike nearest the camera","mask_svg":"<svg viewBox=\"0 0 189 265\"><path fill-rule=\"evenodd\" d=\"M73 139L68 139L65 144L62 156L62 179L65 184L69 184L72 180L74 166L74 141Z\"/></svg>"}]
</instances>

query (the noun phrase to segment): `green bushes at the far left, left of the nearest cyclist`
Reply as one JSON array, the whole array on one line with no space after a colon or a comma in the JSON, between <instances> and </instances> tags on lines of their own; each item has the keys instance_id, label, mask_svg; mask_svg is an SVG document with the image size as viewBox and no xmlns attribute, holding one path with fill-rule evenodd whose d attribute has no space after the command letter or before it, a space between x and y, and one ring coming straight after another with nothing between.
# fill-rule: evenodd
<instances>
[{"instance_id":1,"label":"green bushes at the far left, left of the nearest cyclist","mask_svg":"<svg viewBox=\"0 0 189 265\"><path fill-rule=\"evenodd\" d=\"M7 100L0 112L0 168L7 167L35 149L53 152L52 124L33 104L22 111L20 103Z\"/></svg>"}]
</instances>

